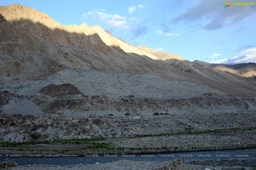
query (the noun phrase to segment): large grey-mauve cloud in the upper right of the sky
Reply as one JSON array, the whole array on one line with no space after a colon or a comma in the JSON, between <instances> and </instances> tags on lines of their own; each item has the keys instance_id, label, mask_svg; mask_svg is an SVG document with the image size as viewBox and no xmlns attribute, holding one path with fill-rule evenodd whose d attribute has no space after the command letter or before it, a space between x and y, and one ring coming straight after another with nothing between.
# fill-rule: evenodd
<instances>
[{"instance_id":1,"label":"large grey-mauve cloud in the upper right of the sky","mask_svg":"<svg viewBox=\"0 0 256 170\"><path fill-rule=\"evenodd\" d=\"M183 21L185 24L195 22L206 30L218 30L241 22L247 17L255 17L256 10L251 7L232 6L224 8L224 0L197 0L190 8L179 14L174 23ZM172 23L173 24L173 23Z\"/></svg>"}]
</instances>

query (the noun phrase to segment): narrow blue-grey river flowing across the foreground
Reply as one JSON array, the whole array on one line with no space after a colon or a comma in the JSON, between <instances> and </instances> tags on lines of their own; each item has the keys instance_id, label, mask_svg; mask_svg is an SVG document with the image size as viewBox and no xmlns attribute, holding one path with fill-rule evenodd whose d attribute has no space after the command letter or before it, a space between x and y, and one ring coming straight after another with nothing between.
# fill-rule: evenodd
<instances>
[{"instance_id":1,"label":"narrow blue-grey river flowing across the foreground","mask_svg":"<svg viewBox=\"0 0 256 170\"><path fill-rule=\"evenodd\" d=\"M154 154L141 156L0 156L0 161L15 161L19 165L78 165L130 161L172 161L183 157L184 161L217 161L217 160L247 160L256 162L256 149L248 150L212 150L170 154Z\"/></svg>"}]
</instances>

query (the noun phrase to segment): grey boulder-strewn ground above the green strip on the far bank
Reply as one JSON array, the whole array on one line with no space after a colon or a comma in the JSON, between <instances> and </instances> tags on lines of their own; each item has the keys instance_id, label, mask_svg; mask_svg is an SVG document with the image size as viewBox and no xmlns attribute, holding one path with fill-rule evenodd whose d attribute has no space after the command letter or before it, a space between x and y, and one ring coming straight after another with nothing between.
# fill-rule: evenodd
<instances>
[{"instance_id":1,"label":"grey boulder-strewn ground above the green strip on the far bank","mask_svg":"<svg viewBox=\"0 0 256 170\"><path fill-rule=\"evenodd\" d=\"M234 129L244 132L256 127L253 111L216 114L162 114L151 116L9 116L1 115L1 141L26 142L50 139L90 139L191 133L218 129ZM246 129L251 127L252 129ZM72 130L73 128L74 130ZM226 132L230 133L230 132ZM232 132L231 132L232 133ZM236 133L236 132L233 132ZM239 133L239 131L237 132ZM35 138L34 134L38 134Z\"/></svg>"}]
</instances>

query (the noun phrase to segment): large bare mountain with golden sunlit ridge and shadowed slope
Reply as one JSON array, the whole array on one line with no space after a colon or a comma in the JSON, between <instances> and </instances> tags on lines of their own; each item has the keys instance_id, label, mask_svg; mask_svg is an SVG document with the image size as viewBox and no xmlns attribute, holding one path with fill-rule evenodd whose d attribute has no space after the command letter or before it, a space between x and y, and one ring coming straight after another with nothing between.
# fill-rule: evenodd
<instances>
[{"instance_id":1,"label":"large bare mountain with golden sunlit ridge and shadowed slope","mask_svg":"<svg viewBox=\"0 0 256 170\"><path fill-rule=\"evenodd\" d=\"M255 93L253 81L195 65L177 54L132 46L100 26L62 26L48 14L20 4L2 6L0 11L4 77L44 80L65 69L129 72L194 82L221 93Z\"/></svg>"}]
</instances>

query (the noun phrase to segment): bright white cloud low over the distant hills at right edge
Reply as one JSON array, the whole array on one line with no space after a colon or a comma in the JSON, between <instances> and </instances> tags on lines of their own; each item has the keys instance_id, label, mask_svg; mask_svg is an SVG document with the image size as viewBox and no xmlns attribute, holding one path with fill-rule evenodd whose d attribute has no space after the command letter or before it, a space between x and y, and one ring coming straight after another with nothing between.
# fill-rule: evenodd
<instances>
[{"instance_id":1,"label":"bright white cloud low over the distant hills at right edge","mask_svg":"<svg viewBox=\"0 0 256 170\"><path fill-rule=\"evenodd\" d=\"M238 55L228 59L219 59L213 63L224 63L224 64L238 64L238 63L256 63L256 48L247 48L246 50L241 51Z\"/></svg>"}]
</instances>

